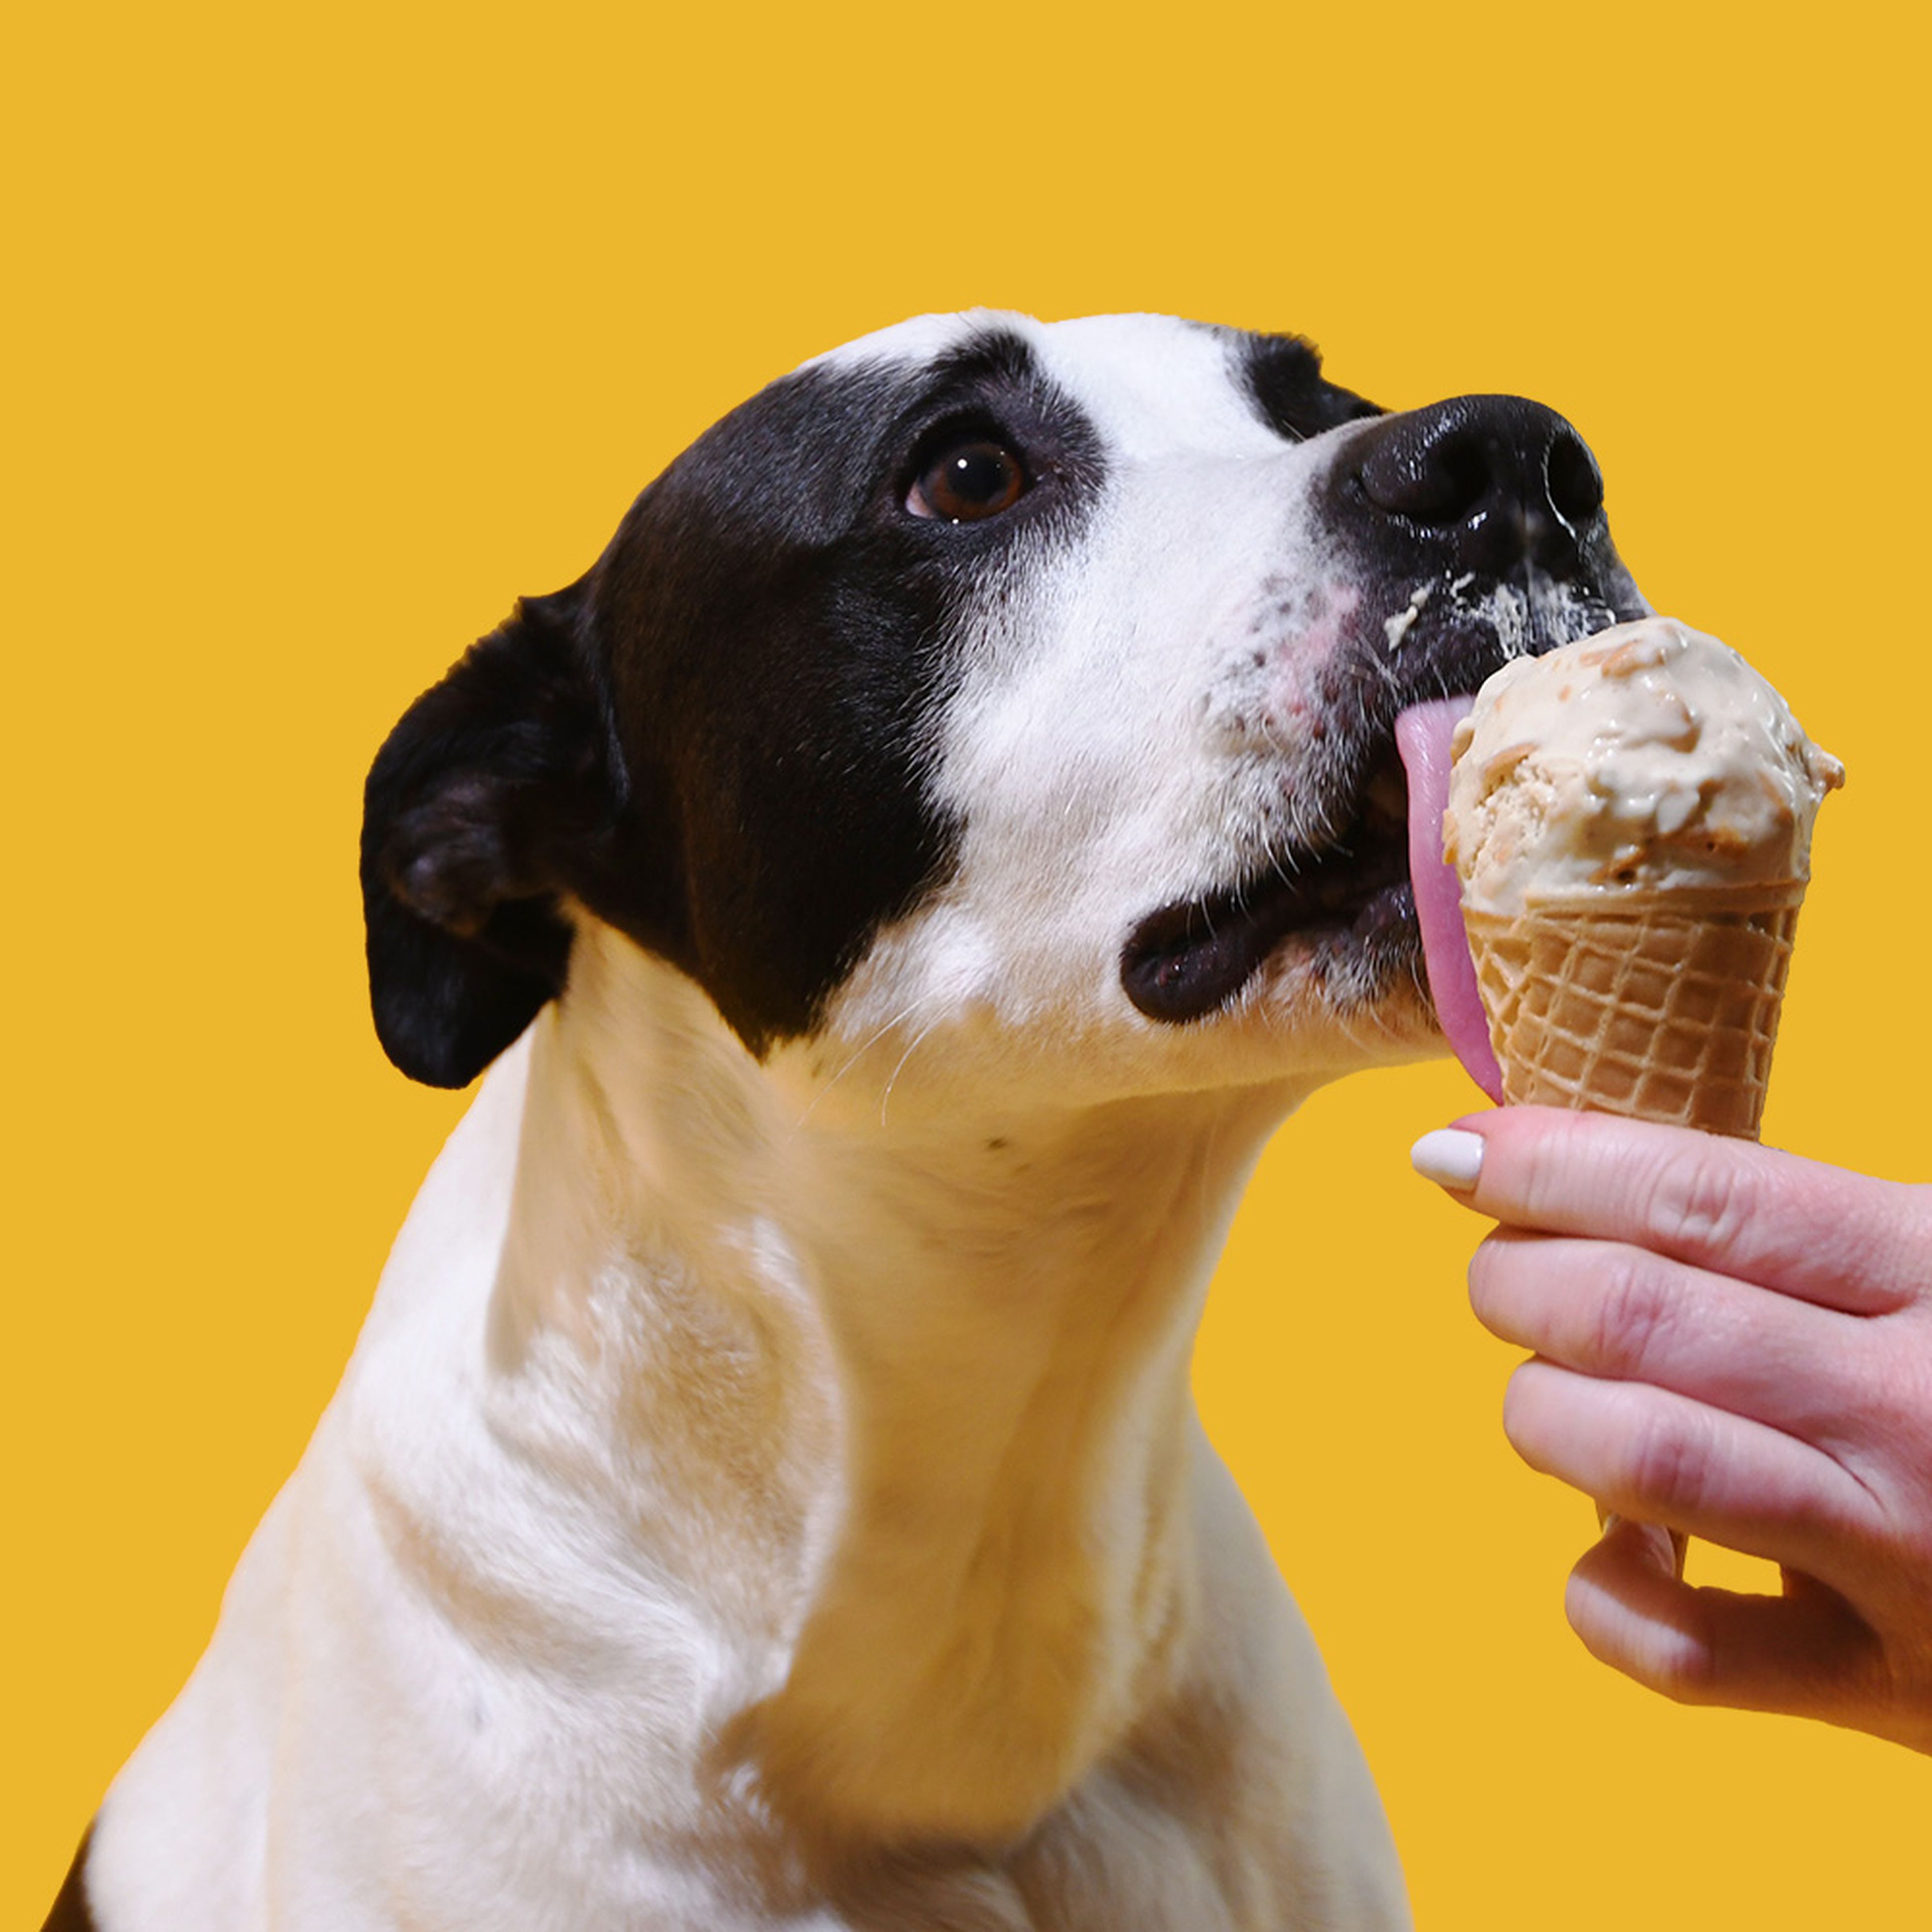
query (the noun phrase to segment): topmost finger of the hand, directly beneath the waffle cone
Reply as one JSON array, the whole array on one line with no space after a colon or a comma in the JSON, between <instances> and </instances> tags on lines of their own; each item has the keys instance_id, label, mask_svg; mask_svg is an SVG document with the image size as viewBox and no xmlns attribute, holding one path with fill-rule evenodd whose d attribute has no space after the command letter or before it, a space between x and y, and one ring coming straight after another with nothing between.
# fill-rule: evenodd
<instances>
[{"instance_id":1,"label":"topmost finger of the hand, directly beneath the waffle cone","mask_svg":"<svg viewBox=\"0 0 1932 1932\"><path fill-rule=\"evenodd\" d=\"M1513 1227L1633 1242L1853 1314L1922 1291L1932 1188L1613 1115L1499 1107L1461 1126L1482 1138L1464 1198Z\"/></svg>"}]
</instances>

